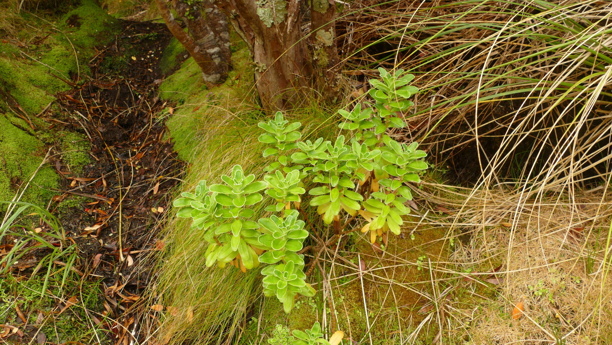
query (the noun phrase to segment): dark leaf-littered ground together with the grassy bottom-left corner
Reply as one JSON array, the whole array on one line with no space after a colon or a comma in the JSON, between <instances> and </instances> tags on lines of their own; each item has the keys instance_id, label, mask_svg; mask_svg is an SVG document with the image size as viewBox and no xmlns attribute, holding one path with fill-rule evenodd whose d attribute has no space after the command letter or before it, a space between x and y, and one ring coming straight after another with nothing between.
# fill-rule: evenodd
<instances>
[{"instance_id":1,"label":"dark leaf-littered ground together with the grassy bottom-left corner","mask_svg":"<svg viewBox=\"0 0 612 345\"><path fill-rule=\"evenodd\" d=\"M68 24L78 28L84 19L73 16ZM54 111L47 107L37 116L39 127L73 138L71 150L51 146L45 166L60 176L48 210L57 214L75 256L54 260L52 274L42 277L32 273L50 249L36 241L21 248L19 261L9 261L1 283L9 312L0 323L13 328L0 335L4 341L122 344L153 322L130 307L152 281L147 257L163 249L157 234L171 205L169 192L184 173L158 117L166 107L157 97L160 61L171 34L160 23L119 25L116 37L89 60L91 74L81 82L64 80L70 88L53 95ZM82 152L80 166L64 159ZM40 221L43 233L46 225ZM6 255L13 247L2 248ZM64 266L70 275L57 279ZM48 288L40 294L42 286Z\"/></svg>"}]
</instances>

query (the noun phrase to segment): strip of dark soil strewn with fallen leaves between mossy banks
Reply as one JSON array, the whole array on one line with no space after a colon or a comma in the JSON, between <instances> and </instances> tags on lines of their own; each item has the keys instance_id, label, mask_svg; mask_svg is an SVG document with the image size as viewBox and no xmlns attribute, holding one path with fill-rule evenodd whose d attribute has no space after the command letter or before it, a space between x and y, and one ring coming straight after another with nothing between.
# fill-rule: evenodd
<instances>
[{"instance_id":1,"label":"strip of dark soil strewn with fallen leaves between mossy banks","mask_svg":"<svg viewBox=\"0 0 612 345\"><path fill-rule=\"evenodd\" d=\"M91 143L91 164L83 172L54 162L63 188L51 209L76 244L76 268L103 285L108 316L121 324L106 327L113 343L129 337L126 330L145 327L138 325L137 312L125 310L151 282L149 254L163 248L159 232L171 205L168 192L181 181L184 166L157 118L166 106L156 96L163 78L159 63L171 34L162 24L122 25L114 43L100 47L89 63L91 79L58 95L62 115L47 118ZM64 207L70 199L78 202Z\"/></svg>"}]
</instances>

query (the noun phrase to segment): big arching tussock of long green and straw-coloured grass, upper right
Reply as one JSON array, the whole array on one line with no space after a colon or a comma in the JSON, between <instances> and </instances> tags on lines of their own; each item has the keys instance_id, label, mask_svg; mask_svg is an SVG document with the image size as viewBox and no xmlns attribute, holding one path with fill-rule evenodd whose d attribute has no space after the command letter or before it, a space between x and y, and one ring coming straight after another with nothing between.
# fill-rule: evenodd
<instances>
[{"instance_id":1,"label":"big arching tussock of long green and straw-coloured grass, upper right","mask_svg":"<svg viewBox=\"0 0 612 345\"><path fill-rule=\"evenodd\" d=\"M469 170L458 172L462 180L500 183L510 171L564 188L563 178L576 186L605 179L610 2L362 5L346 17L345 50L355 51L346 61L350 74L377 65L415 74L422 91L404 135L427 143L438 162L450 158L453 169ZM464 157L453 157L461 150Z\"/></svg>"}]
</instances>

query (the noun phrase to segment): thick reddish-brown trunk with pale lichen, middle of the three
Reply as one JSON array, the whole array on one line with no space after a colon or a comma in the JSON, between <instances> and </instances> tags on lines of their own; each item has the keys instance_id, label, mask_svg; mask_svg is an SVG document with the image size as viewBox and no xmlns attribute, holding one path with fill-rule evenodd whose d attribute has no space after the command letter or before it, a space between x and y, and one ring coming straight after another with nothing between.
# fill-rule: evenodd
<instances>
[{"instance_id":1,"label":"thick reddish-brown trunk with pale lichen, middle of the three","mask_svg":"<svg viewBox=\"0 0 612 345\"><path fill-rule=\"evenodd\" d=\"M302 34L299 0L227 0L222 9L253 52L255 83L268 110L291 107L310 87L312 64Z\"/></svg>"}]
</instances>

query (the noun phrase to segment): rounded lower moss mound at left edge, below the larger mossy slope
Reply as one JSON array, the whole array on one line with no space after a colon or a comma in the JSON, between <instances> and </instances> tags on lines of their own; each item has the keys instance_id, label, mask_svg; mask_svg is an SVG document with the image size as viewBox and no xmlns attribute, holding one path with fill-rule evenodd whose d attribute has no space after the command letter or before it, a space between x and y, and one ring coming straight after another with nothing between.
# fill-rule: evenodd
<instances>
[{"instance_id":1,"label":"rounded lower moss mound at left edge, below the larger mossy slope","mask_svg":"<svg viewBox=\"0 0 612 345\"><path fill-rule=\"evenodd\" d=\"M12 200L21 183L27 183L45 156L42 142L28 133L23 123L10 115L0 115L0 200ZM45 205L58 188L59 176L43 167L34 176L21 201ZM6 207L0 206L0 210Z\"/></svg>"}]
</instances>

